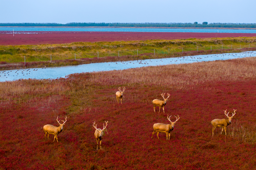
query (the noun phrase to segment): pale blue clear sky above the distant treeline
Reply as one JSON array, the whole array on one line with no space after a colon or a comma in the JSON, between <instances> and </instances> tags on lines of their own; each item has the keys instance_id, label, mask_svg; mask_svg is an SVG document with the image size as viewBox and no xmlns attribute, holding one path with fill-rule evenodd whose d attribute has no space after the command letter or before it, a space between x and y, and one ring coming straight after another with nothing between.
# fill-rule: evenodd
<instances>
[{"instance_id":1,"label":"pale blue clear sky above the distant treeline","mask_svg":"<svg viewBox=\"0 0 256 170\"><path fill-rule=\"evenodd\" d=\"M256 23L255 0L0 1L0 23Z\"/></svg>"}]
</instances>

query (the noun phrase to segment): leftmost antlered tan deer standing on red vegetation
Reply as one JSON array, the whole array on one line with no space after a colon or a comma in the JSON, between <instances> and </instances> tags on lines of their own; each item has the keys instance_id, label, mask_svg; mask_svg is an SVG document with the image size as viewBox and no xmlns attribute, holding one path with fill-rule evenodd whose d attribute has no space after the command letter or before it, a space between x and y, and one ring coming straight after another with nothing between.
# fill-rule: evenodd
<instances>
[{"instance_id":1,"label":"leftmost antlered tan deer standing on red vegetation","mask_svg":"<svg viewBox=\"0 0 256 170\"><path fill-rule=\"evenodd\" d=\"M44 133L45 133L45 137L48 133L48 136L47 136L48 140L49 140L49 134L54 135L54 140L56 138L57 142L59 143L57 135L62 132L63 126L67 122L67 116L66 116L66 121L65 122L62 120L63 124L60 124L60 122L59 122L60 120L58 121L58 117L59 116L57 116L56 120L57 120L57 122L59 123L60 126L56 127L56 126L53 126L53 125L44 125ZM54 142L54 140L53 140L53 142Z\"/></svg>"}]
</instances>

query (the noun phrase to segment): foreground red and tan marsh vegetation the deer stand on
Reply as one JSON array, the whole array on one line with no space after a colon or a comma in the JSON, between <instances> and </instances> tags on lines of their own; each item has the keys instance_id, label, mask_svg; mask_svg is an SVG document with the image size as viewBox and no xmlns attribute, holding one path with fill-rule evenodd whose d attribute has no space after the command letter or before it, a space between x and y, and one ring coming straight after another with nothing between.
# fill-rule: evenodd
<instances>
[{"instance_id":1,"label":"foreground red and tan marsh vegetation the deer stand on","mask_svg":"<svg viewBox=\"0 0 256 170\"><path fill-rule=\"evenodd\" d=\"M253 169L255 75L250 57L1 82L0 169ZM154 113L163 92L165 113ZM211 120L225 119L226 109L237 110L227 136L216 128L212 137ZM180 117L170 140L151 139L167 115ZM57 126L57 116L67 116L59 143L44 141L43 126ZM98 151L94 121L108 121Z\"/></svg>"}]
</instances>

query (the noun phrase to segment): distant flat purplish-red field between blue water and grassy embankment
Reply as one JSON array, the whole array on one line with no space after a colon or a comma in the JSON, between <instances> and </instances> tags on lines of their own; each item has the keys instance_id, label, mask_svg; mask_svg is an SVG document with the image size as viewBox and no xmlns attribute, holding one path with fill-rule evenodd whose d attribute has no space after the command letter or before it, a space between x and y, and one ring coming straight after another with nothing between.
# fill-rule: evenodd
<instances>
[{"instance_id":1,"label":"distant flat purplish-red field between blue water and grassy embankment","mask_svg":"<svg viewBox=\"0 0 256 170\"><path fill-rule=\"evenodd\" d=\"M9 33L9 34L7 34ZM192 33L192 32L26 32L0 31L0 45L63 44L72 42L113 42L141 40L175 40L214 37L256 37L253 33Z\"/></svg>"}]
</instances>

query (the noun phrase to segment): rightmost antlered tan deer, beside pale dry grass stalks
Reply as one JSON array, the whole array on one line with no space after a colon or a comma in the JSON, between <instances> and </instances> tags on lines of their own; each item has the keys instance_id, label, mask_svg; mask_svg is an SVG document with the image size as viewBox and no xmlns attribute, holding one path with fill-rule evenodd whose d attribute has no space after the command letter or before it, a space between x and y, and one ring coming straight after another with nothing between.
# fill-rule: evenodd
<instances>
[{"instance_id":1,"label":"rightmost antlered tan deer, beside pale dry grass stalks","mask_svg":"<svg viewBox=\"0 0 256 170\"><path fill-rule=\"evenodd\" d=\"M221 130L220 134L222 134L223 129L224 129L225 130L225 135L227 136L226 128L227 128L228 125L231 124L231 119L236 114L237 110L234 109L234 113L231 112L232 113L231 117L228 116L229 112L227 114L227 109L223 110L223 111L225 112L224 114L228 117L228 119L214 119L214 120L211 121L211 125L213 127L212 128L212 137L214 136L214 130L216 129L216 127L222 127L222 130Z\"/></svg>"}]
</instances>

